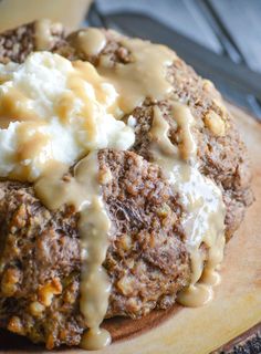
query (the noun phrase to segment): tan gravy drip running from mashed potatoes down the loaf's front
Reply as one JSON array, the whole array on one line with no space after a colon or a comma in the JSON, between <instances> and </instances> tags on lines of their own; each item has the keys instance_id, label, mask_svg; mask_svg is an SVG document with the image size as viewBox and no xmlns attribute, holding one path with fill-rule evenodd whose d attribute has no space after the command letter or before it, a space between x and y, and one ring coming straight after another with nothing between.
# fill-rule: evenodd
<instances>
[{"instance_id":1,"label":"tan gravy drip running from mashed potatoes down the loaf's front","mask_svg":"<svg viewBox=\"0 0 261 354\"><path fill-rule=\"evenodd\" d=\"M71 178L63 179L67 166L58 165L52 173L40 178L34 189L51 210L73 205L80 212L81 236L81 299L80 309L86 326L81 345L97 350L111 343L111 335L100 327L107 311L111 283L102 267L108 247L111 221L107 216L102 187L98 184L97 153L92 152L74 167Z\"/></svg>"}]
</instances>

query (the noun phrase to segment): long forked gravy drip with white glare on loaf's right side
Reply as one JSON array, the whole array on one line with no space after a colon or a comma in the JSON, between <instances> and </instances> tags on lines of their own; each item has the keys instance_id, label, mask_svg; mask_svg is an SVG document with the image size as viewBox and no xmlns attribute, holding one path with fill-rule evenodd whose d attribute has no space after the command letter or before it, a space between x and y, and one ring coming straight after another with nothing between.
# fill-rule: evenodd
<instances>
[{"instance_id":1,"label":"long forked gravy drip with white glare on loaf's right side","mask_svg":"<svg viewBox=\"0 0 261 354\"><path fill-rule=\"evenodd\" d=\"M174 190L179 192L188 214L182 219L187 250L191 261L190 285L178 294L179 303L199 306L212 298L212 285L219 281L217 268L223 258L225 205L220 189L196 166L188 164L196 157L196 142L191 134L194 117L189 108L173 103L173 115L181 128L181 143L175 147L169 138L169 125L158 107L154 108L150 129L153 159L165 171ZM208 254L201 249L205 244ZM207 257L206 257L207 256Z\"/></svg>"}]
</instances>

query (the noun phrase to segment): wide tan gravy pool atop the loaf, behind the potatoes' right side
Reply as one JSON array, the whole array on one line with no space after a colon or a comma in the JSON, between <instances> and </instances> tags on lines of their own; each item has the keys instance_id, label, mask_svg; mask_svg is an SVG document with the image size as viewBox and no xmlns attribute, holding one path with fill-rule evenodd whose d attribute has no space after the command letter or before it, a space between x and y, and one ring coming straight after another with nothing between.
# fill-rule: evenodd
<instances>
[{"instance_id":1,"label":"wide tan gravy pool atop the loaf, behind the potatoes' right side","mask_svg":"<svg viewBox=\"0 0 261 354\"><path fill-rule=\"evenodd\" d=\"M97 71L109 81L119 93L118 106L124 113L142 105L146 97L164 100L171 92L166 81L167 67L176 54L168 48L138 39L123 39L122 44L129 50L130 62L115 66L100 65ZM103 61L103 55L101 56Z\"/></svg>"}]
</instances>

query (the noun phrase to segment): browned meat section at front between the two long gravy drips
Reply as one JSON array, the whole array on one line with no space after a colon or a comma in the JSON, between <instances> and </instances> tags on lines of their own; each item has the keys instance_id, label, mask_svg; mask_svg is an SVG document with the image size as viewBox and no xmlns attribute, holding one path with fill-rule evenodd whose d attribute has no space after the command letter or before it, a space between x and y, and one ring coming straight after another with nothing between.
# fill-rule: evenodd
<instances>
[{"instance_id":1,"label":"browned meat section at front between the two long gravy drips","mask_svg":"<svg viewBox=\"0 0 261 354\"><path fill-rule=\"evenodd\" d=\"M174 303L188 281L182 209L157 166L134 153L100 156L112 175L104 197L115 229L105 263L115 287L108 312L140 316Z\"/></svg>"}]
</instances>

